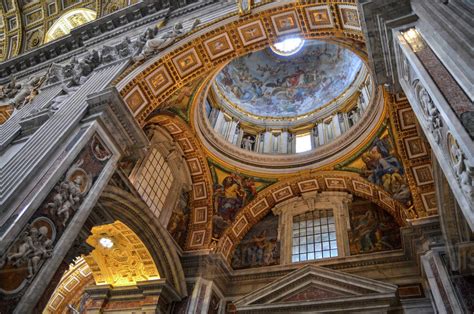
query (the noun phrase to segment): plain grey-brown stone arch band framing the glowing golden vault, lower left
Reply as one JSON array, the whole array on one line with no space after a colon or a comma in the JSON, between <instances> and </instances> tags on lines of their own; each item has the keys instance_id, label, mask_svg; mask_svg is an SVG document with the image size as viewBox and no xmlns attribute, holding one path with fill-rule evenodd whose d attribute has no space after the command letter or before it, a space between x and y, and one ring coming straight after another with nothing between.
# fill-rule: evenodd
<instances>
[{"instance_id":1,"label":"plain grey-brown stone arch band framing the glowing golden vault, lower left","mask_svg":"<svg viewBox=\"0 0 474 314\"><path fill-rule=\"evenodd\" d=\"M183 268L168 231L155 223L148 206L132 193L107 186L98 201L113 217L127 225L145 244L160 273L184 297L187 295Z\"/></svg>"}]
</instances>

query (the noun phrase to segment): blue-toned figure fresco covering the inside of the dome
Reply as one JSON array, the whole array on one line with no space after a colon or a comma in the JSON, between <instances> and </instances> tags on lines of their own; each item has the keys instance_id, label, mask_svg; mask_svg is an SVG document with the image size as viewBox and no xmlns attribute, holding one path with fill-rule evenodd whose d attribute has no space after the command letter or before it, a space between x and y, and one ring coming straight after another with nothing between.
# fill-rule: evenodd
<instances>
[{"instance_id":1,"label":"blue-toned figure fresco covering the inside of the dome","mask_svg":"<svg viewBox=\"0 0 474 314\"><path fill-rule=\"evenodd\" d=\"M344 93L362 65L344 47L311 40L291 56L267 48L235 59L219 72L216 87L247 114L292 118L322 108Z\"/></svg>"}]
</instances>

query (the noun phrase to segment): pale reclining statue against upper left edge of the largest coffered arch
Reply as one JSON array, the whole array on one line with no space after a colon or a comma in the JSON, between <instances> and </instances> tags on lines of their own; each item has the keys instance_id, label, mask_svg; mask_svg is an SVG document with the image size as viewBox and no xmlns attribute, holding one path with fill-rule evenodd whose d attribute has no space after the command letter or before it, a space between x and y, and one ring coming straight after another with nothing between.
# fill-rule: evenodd
<instances>
[{"instance_id":1,"label":"pale reclining statue against upper left edge of the largest coffered arch","mask_svg":"<svg viewBox=\"0 0 474 314\"><path fill-rule=\"evenodd\" d=\"M145 33L139 37L137 41L137 46L139 47L143 41L146 39L143 48L141 49L140 54L135 56L133 59L136 62L143 61L153 54L162 51L163 49L171 46L174 44L178 38L188 34L189 32L193 31L196 26L201 23L199 19L194 20L193 25L188 30L184 30L183 24L178 22L173 25L172 29L168 32L164 33L161 36L156 37L158 30L155 29L147 29Z\"/></svg>"}]
</instances>

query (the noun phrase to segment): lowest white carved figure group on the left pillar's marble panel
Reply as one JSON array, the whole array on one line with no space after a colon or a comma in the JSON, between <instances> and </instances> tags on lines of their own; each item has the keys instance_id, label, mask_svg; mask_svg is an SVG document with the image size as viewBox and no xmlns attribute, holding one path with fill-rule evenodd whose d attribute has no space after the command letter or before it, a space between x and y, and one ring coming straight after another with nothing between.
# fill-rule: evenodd
<instances>
[{"instance_id":1,"label":"lowest white carved figure group on the left pillar's marble panel","mask_svg":"<svg viewBox=\"0 0 474 314\"><path fill-rule=\"evenodd\" d=\"M32 278L39 270L40 262L51 257L53 242L48 237L46 226L27 227L16 252L8 254L8 262L15 267L28 265L28 277Z\"/></svg>"}]
</instances>

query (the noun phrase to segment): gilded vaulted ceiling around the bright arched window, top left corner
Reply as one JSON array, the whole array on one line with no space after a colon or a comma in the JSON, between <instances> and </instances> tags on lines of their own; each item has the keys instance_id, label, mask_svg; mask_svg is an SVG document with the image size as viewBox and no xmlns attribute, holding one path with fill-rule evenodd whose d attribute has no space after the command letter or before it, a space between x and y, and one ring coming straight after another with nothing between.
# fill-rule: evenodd
<instances>
[{"instance_id":1,"label":"gilded vaulted ceiling around the bright arched window, top left corner","mask_svg":"<svg viewBox=\"0 0 474 314\"><path fill-rule=\"evenodd\" d=\"M89 9L97 18L110 14L140 0L1 0L0 61L38 48L53 24L65 13ZM72 18L71 25L84 23ZM59 34L58 34L59 35Z\"/></svg>"}]
</instances>

